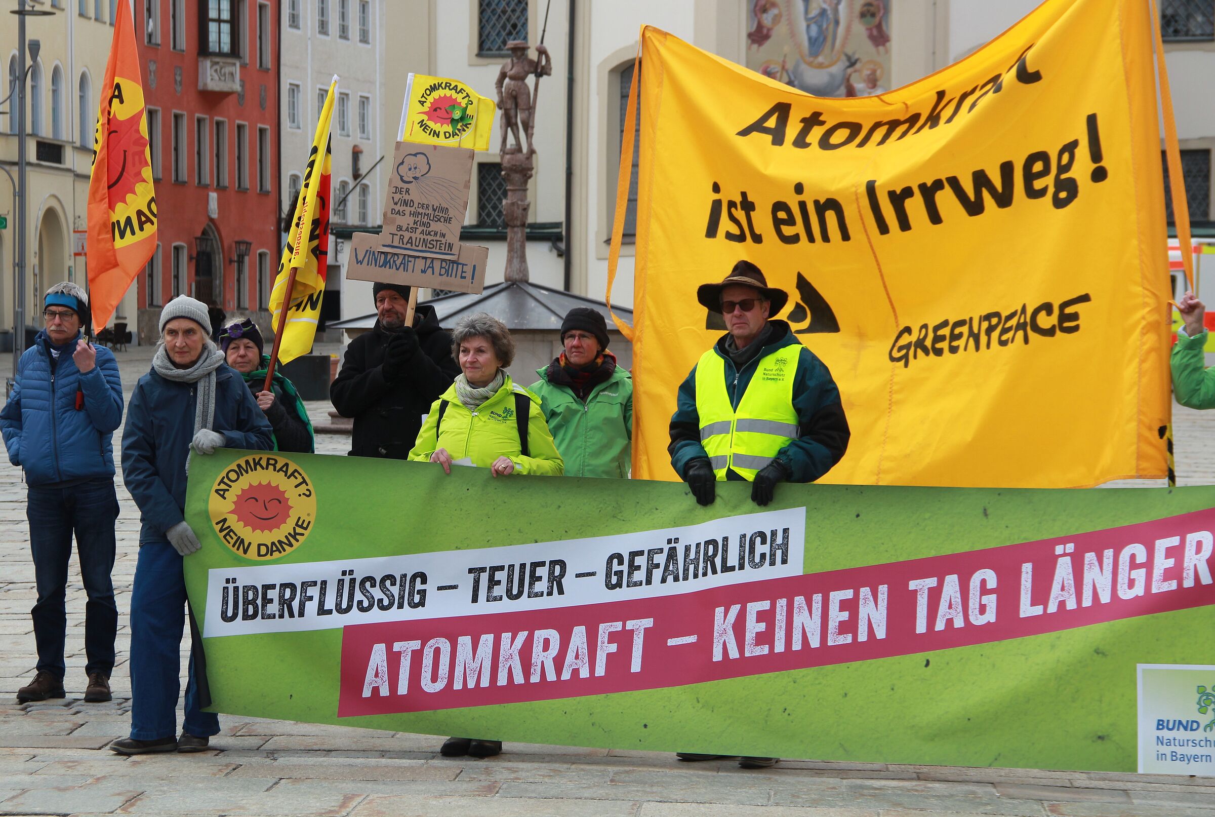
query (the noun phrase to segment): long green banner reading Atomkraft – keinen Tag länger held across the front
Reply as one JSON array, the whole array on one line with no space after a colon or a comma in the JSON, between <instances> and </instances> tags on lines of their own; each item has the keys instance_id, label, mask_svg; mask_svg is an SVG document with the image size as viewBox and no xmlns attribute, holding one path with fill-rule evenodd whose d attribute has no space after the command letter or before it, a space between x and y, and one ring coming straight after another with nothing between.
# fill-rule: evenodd
<instances>
[{"instance_id":1,"label":"long green banner reading Atomkraft \u2013 keinen Tag l\u00e4nger held across the front","mask_svg":"<svg viewBox=\"0 0 1215 817\"><path fill-rule=\"evenodd\" d=\"M220 712L1211 774L1213 506L780 485L759 508L723 483L702 508L673 483L219 451L191 467L185 564Z\"/></svg>"}]
</instances>

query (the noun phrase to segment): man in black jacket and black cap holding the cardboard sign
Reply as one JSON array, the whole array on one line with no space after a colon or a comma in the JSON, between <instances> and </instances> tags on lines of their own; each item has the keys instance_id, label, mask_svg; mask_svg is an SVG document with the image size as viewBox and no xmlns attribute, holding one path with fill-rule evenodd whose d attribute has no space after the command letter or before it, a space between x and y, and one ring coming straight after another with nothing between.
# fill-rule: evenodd
<instances>
[{"instance_id":1,"label":"man in black jacket and black cap holding the cardboard sign","mask_svg":"<svg viewBox=\"0 0 1215 817\"><path fill-rule=\"evenodd\" d=\"M375 326L346 346L341 371L329 387L333 407L355 421L350 453L406 460L422 416L459 374L451 334L434 306L418 306L405 325L409 287L377 282Z\"/></svg>"}]
</instances>

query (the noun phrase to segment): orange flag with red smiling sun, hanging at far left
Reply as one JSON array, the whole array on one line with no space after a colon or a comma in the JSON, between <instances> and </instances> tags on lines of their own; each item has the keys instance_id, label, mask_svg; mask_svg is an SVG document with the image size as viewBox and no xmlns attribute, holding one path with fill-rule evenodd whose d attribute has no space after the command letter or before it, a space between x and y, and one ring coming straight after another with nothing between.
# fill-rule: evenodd
<instances>
[{"instance_id":1,"label":"orange flag with red smiling sun, hanging at far left","mask_svg":"<svg viewBox=\"0 0 1215 817\"><path fill-rule=\"evenodd\" d=\"M131 281L156 252L156 190L143 117L143 79L131 10L119 2L117 12L89 179L89 300L94 331L106 326Z\"/></svg>"}]
</instances>

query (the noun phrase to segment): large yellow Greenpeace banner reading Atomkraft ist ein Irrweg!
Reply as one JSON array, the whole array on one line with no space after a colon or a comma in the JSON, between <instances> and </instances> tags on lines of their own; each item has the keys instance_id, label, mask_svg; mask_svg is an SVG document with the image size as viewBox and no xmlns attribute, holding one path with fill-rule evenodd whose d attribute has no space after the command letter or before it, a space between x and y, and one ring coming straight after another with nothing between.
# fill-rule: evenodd
<instances>
[{"instance_id":1,"label":"large yellow Greenpeace banner reading Atomkraft ist ein Irrweg!","mask_svg":"<svg viewBox=\"0 0 1215 817\"><path fill-rule=\"evenodd\" d=\"M676 390L724 331L696 287L748 259L840 385L852 441L825 481L1163 478L1151 13L1047 0L962 62L861 98L643 29L634 475L676 479Z\"/></svg>"}]
</instances>

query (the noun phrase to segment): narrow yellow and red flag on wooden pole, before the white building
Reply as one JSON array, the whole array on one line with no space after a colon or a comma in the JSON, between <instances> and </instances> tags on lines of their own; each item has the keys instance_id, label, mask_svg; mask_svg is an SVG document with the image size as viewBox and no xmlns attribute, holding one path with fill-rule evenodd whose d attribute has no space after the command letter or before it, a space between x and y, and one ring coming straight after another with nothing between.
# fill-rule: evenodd
<instances>
[{"instance_id":1,"label":"narrow yellow and red flag on wooden pole, before the white building","mask_svg":"<svg viewBox=\"0 0 1215 817\"><path fill-rule=\"evenodd\" d=\"M329 142L329 125L333 122L333 105L337 98L338 78L329 83L321 118L316 123L312 148L304 169L304 185L295 199L294 218L287 236L287 246L278 260L278 275L270 293L270 311L275 332L281 336L278 361L287 364L306 355L316 339L316 326L321 319L321 299L324 297L324 276L329 257L329 162L333 146ZM287 283L294 275L287 325L283 326L283 302Z\"/></svg>"}]
</instances>

